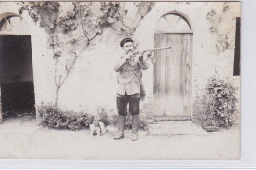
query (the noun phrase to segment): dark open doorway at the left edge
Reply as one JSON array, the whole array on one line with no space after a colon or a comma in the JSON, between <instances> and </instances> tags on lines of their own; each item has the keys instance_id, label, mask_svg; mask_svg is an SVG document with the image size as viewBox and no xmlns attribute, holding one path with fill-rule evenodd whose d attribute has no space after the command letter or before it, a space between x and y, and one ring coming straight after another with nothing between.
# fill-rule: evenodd
<instances>
[{"instance_id":1,"label":"dark open doorway at the left edge","mask_svg":"<svg viewBox=\"0 0 256 170\"><path fill-rule=\"evenodd\" d=\"M4 117L35 116L31 36L0 36L0 83Z\"/></svg>"}]
</instances>

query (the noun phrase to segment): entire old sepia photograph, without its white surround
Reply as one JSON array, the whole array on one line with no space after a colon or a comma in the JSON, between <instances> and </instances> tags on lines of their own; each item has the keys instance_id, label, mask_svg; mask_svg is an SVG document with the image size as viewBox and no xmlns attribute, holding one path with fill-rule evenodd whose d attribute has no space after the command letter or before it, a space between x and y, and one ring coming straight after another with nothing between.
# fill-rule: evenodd
<instances>
[{"instance_id":1,"label":"entire old sepia photograph, without its white surround","mask_svg":"<svg viewBox=\"0 0 256 170\"><path fill-rule=\"evenodd\" d=\"M239 160L241 2L0 2L0 158Z\"/></svg>"}]
</instances>

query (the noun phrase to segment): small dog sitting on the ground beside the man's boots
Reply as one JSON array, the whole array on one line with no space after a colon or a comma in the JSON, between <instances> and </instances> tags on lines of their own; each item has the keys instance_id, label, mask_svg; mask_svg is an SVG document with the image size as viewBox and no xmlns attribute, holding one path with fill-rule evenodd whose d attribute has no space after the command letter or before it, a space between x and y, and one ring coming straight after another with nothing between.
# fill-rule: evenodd
<instances>
[{"instance_id":1,"label":"small dog sitting on the ground beside the man's boots","mask_svg":"<svg viewBox=\"0 0 256 170\"><path fill-rule=\"evenodd\" d=\"M89 128L91 138L94 138L94 135L99 137L101 134L106 133L105 124L97 116L94 118L93 123L89 125Z\"/></svg>"}]
</instances>

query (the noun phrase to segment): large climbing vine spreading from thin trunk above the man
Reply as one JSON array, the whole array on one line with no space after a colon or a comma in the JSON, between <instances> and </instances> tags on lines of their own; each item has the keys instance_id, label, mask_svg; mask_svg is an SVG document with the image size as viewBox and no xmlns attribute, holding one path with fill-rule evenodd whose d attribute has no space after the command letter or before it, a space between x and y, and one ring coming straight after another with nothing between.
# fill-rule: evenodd
<instances>
[{"instance_id":1,"label":"large climbing vine spreading from thin trunk above the man","mask_svg":"<svg viewBox=\"0 0 256 170\"><path fill-rule=\"evenodd\" d=\"M127 19L133 3L135 15ZM20 14L27 11L35 24L48 34L49 49L55 61L56 100L81 53L92 40L112 27L122 36L131 37L153 2L21 2ZM128 22L127 22L128 21ZM131 24L132 21L132 24ZM63 58L66 59L63 62Z\"/></svg>"}]
</instances>

